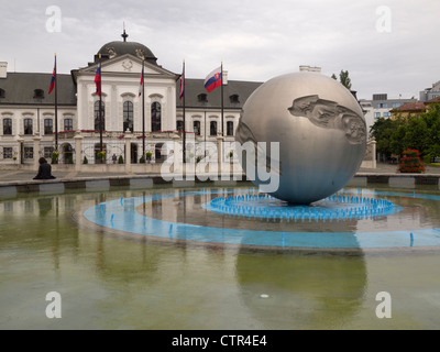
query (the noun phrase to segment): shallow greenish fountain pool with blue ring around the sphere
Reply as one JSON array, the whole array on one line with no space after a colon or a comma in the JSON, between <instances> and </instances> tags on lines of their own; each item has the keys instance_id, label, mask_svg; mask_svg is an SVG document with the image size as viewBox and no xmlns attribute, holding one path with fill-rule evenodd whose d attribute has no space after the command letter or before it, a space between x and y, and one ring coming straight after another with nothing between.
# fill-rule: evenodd
<instances>
[{"instance_id":1,"label":"shallow greenish fountain pool with blue ring around the sphere","mask_svg":"<svg viewBox=\"0 0 440 352\"><path fill-rule=\"evenodd\" d=\"M121 188L1 200L0 329L440 327L438 188L346 188L341 197L394 211L340 219L215 209L253 194ZM62 319L45 315L51 292ZM376 316L382 292L392 319Z\"/></svg>"}]
</instances>

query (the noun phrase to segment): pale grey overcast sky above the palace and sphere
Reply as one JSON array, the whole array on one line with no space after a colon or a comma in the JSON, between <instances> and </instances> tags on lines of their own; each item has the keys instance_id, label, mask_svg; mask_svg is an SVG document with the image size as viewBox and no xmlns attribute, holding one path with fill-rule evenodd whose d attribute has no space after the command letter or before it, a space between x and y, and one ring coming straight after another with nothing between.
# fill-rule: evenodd
<instances>
[{"instance_id":1,"label":"pale grey overcast sky above the palace and sphere","mask_svg":"<svg viewBox=\"0 0 440 352\"><path fill-rule=\"evenodd\" d=\"M61 10L61 32L53 32ZM384 8L385 7L385 8ZM440 80L438 0L16 0L1 3L0 62L9 72L87 66L108 42L146 45L166 69L205 78L224 63L229 79L266 81L319 66L349 70L358 97L419 97ZM48 31L47 26L52 29Z\"/></svg>"}]
</instances>

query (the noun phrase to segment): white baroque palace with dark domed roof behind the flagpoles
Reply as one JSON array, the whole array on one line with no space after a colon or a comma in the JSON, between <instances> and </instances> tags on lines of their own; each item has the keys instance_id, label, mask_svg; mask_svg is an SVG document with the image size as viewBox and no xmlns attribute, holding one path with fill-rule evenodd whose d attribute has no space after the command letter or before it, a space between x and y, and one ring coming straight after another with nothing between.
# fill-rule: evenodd
<instances>
[{"instance_id":1,"label":"white baroque palace with dark domed roof behind the flagpoles","mask_svg":"<svg viewBox=\"0 0 440 352\"><path fill-rule=\"evenodd\" d=\"M61 164L85 160L89 164L100 163L100 108L95 84L99 56L107 163L120 156L124 162L139 163L143 130L145 152L151 153L152 163L165 160L164 143L182 141L184 130L187 139L196 143L234 141L242 106L261 82L228 80L224 73L222 119L221 89L208 94L204 79L186 79L184 128L180 75L160 66L150 48L127 41L127 36L124 33L123 41L103 45L86 67L74 69L70 75L57 75L58 133L55 95L48 95L52 74L8 73L7 63L0 63L0 166L35 165L42 156L50 160L56 144ZM144 97L139 96L142 57ZM194 153L193 157L197 156L197 151Z\"/></svg>"}]
</instances>

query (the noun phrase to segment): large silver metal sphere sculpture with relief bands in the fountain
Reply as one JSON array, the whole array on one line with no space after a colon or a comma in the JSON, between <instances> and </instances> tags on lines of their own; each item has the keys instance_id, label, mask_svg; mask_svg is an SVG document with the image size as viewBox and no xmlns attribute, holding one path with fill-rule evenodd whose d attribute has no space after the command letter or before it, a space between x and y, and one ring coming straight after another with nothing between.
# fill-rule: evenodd
<instances>
[{"instance_id":1,"label":"large silver metal sphere sculpture with relief bands in the fountain","mask_svg":"<svg viewBox=\"0 0 440 352\"><path fill-rule=\"evenodd\" d=\"M279 142L279 176L272 196L309 205L343 188L366 151L366 124L354 96L330 77L289 74L262 85L243 107L237 142ZM267 160L271 154L267 153ZM240 157L246 170L246 158ZM253 183L264 184L256 173ZM248 175L249 176L249 175ZM252 179L252 178L251 178Z\"/></svg>"}]
</instances>

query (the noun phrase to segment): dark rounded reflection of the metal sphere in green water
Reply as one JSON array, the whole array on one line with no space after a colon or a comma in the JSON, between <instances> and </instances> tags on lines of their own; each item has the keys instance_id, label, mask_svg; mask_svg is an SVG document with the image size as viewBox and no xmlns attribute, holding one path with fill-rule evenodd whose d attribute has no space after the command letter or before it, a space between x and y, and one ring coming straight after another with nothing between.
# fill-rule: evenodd
<instances>
[{"instance_id":1,"label":"dark rounded reflection of the metal sphere in green water","mask_svg":"<svg viewBox=\"0 0 440 352\"><path fill-rule=\"evenodd\" d=\"M367 285L363 256L242 254L237 277L266 329L341 328L356 317Z\"/></svg>"}]
</instances>

